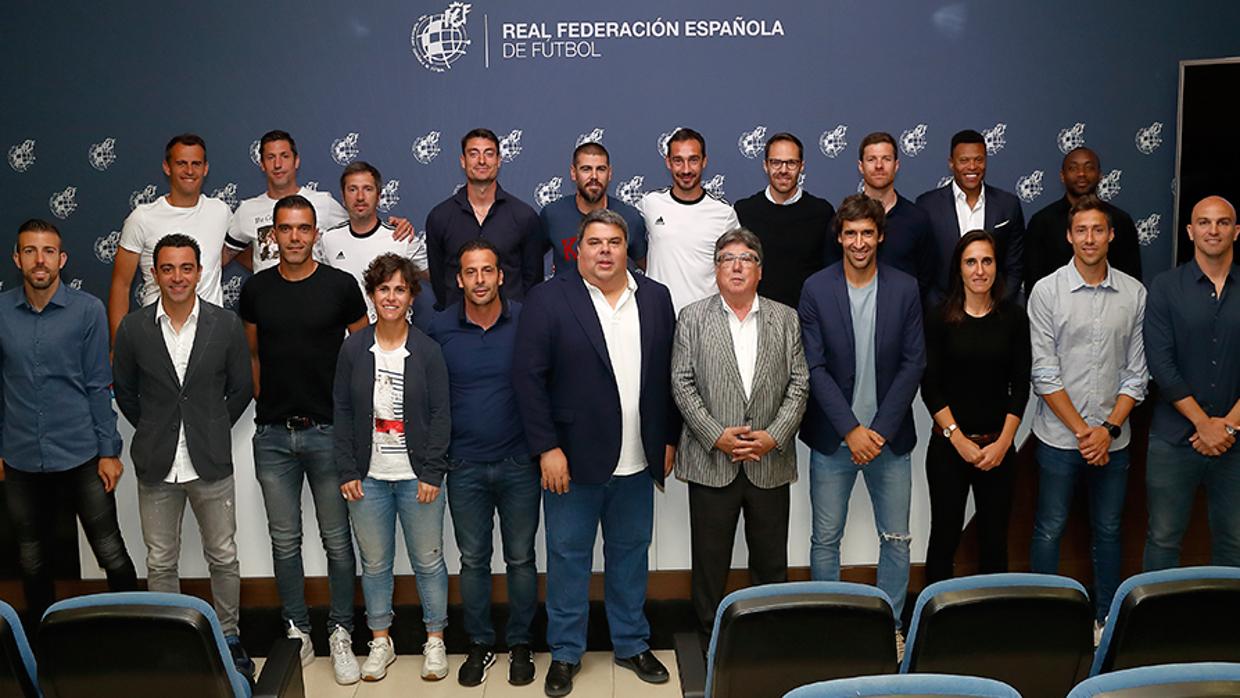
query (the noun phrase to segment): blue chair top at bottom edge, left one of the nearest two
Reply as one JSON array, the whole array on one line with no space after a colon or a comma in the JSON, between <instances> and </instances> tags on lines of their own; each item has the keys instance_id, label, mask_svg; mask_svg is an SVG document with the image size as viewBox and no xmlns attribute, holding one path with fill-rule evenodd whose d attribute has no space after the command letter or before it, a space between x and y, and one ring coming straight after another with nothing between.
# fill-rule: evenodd
<instances>
[{"instance_id":1,"label":"blue chair top at bottom edge, left one of the nearest two","mask_svg":"<svg viewBox=\"0 0 1240 698\"><path fill-rule=\"evenodd\" d=\"M1021 698L1016 688L976 676L901 673L839 678L802 686L784 698L866 698L877 696L956 696L960 698Z\"/></svg>"}]
</instances>

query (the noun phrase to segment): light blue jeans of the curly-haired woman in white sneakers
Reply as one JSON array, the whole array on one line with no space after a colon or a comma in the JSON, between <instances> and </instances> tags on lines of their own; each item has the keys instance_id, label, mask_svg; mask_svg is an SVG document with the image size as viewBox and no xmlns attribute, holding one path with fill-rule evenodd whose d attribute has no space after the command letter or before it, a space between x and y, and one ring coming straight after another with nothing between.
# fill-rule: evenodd
<instances>
[{"instance_id":1,"label":"light blue jeans of the curly-haired woman in white sneakers","mask_svg":"<svg viewBox=\"0 0 1240 698\"><path fill-rule=\"evenodd\" d=\"M362 555L362 595L366 626L392 627L392 563L396 562L396 521L401 517L404 548L409 553L422 620L427 632L448 627L448 567L444 564L444 495L418 502L418 481L362 480L362 498L348 502Z\"/></svg>"}]
</instances>

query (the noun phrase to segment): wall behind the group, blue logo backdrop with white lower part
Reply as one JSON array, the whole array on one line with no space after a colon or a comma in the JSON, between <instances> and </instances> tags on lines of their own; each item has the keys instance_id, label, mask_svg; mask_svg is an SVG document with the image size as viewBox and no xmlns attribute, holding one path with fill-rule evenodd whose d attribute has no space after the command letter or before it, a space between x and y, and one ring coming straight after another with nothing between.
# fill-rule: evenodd
<instances>
[{"instance_id":1,"label":"wall behind the group, blue logo backdrop with white lower part","mask_svg":"<svg viewBox=\"0 0 1240 698\"><path fill-rule=\"evenodd\" d=\"M125 216L166 191L170 135L206 138L205 191L236 205L263 191L252 148L274 128L296 136L303 183L336 192L341 165L368 160L391 180L384 206L419 229L463 181L458 140L479 125L503 136L503 186L536 206L572 192L582 138L610 149L614 193L634 198L668 182L661 136L697 128L706 179L737 200L765 185L764 135L790 130L807 146L806 188L838 202L857 190L868 131L900 139L897 186L911 198L947 175L951 134L975 128L988 136L987 180L1017 191L1028 217L1061 195L1060 159L1084 143L1157 272L1171 264L1178 61L1240 53L1240 4L1224 1L21 0L5 10L0 238L29 217L57 221L66 279L100 296ZM226 275L232 298L238 273ZM0 264L0 284L19 283ZM243 419L233 435L239 526L253 532L242 565L270 574L244 474L250 429ZM920 559L929 513L914 460ZM804 481L802 470L792 564L807 553ZM136 552L131 490L126 479L123 524ZM657 506L652 567L688 567L683 486ZM854 497L846 562L873 562L867 510ZM308 539L314 531L308 521ZM187 531L188 575L205 573L195 539ZM308 572L321 574L321 554L308 554Z\"/></svg>"}]
</instances>

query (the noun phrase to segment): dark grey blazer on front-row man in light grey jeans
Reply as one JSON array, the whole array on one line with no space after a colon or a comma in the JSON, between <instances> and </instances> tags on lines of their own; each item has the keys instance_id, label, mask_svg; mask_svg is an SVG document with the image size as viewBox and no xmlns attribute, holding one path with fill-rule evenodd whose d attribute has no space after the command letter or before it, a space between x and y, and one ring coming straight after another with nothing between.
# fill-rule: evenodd
<instances>
[{"instance_id":1,"label":"dark grey blazer on front-row man in light grey jeans","mask_svg":"<svg viewBox=\"0 0 1240 698\"><path fill-rule=\"evenodd\" d=\"M198 299L198 329L185 382L155 322L155 301L120 321L113 348L113 391L134 425L129 455L143 482L172 469L181 424L193 470L206 481L232 475L232 425L254 398L249 345L237 314Z\"/></svg>"}]
</instances>

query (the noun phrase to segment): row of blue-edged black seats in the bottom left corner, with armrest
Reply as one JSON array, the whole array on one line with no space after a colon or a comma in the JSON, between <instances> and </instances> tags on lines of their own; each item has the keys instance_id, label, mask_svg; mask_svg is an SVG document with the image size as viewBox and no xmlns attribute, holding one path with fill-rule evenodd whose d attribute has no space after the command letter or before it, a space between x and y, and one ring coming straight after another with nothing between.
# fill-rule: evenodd
<instances>
[{"instance_id":1,"label":"row of blue-edged black seats in the bottom left corner, with armrest","mask_svg":"<svg viewBox=\"0 0 1240 698\"><path fill-rule=\"evenodd\" d=\"M195 596L66 599L43 614L33 648L0 601L0 697L305 698L300 648L277 640L252 686L233 666L215 610Z\"/></svg>"}]
</instances>

